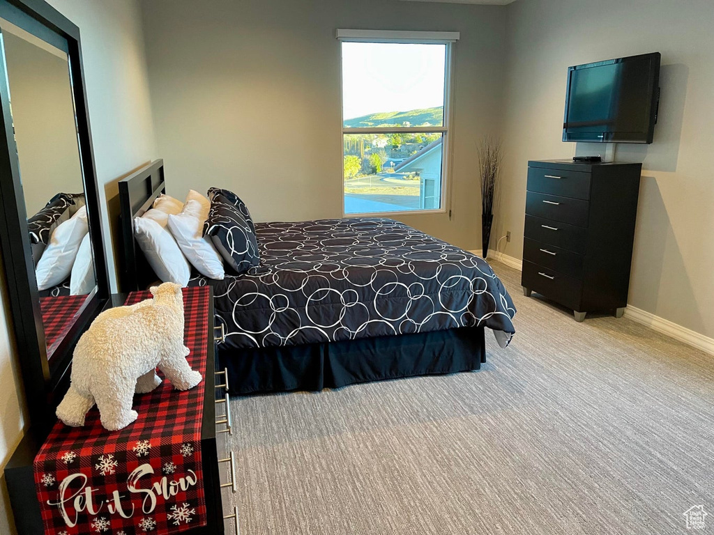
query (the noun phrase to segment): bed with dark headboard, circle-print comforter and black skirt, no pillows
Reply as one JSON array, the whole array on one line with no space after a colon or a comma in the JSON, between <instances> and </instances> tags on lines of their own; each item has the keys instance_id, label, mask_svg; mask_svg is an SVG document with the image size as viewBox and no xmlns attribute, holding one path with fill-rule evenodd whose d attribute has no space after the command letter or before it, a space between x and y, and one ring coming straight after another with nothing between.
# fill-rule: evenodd
<instances>
[{"instance_id":1,"label":"bed with dark headboard, circle-print comforter and black skirt, no pillows","mask_svg":"<svg viewBox=\"0 0 714 535\"><path fill-rule=\"evenodd\" d=\"M132 221L165 190L156 161L120 183L122 290L156 281ZM213 287L231 392L338 388L478 370L484 329L502 347L511 297L481 258L386 218L257 223L260 264Z\"/></svg>"}]
</instances>

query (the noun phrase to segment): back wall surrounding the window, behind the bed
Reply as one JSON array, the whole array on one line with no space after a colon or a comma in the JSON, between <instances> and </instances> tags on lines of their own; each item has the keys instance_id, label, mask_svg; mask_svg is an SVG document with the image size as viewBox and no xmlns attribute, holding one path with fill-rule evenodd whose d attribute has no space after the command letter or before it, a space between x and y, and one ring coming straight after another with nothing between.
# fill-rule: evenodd
<instances>
[{"instance_id":1,"label":"back wall surrounding the window, behind the bed","mask_svg":"<svg viewBox=\"0 0 714 535\"><path fill-rule=\"evenodd\" d=\"M474 146L501 118L505 9L377 0L151 0L141 8L169 193L221 185L258 221L341 217L336 29L461 31L453 218L401 219L476 248Z\"/></svg>"}]
</instances>

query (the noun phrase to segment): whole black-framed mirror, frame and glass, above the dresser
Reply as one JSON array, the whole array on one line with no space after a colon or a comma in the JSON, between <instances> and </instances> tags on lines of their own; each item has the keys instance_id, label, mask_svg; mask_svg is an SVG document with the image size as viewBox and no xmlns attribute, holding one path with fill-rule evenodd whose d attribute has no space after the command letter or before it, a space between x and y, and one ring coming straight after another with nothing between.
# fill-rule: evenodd
<instances>
[{"instance_id":1,"label":"whole black-framed mirror, frame and glass, above the dresser","mask_svg":"<svg viewBox=\"0 0 714 535\"><path fill-rule=\"evenodd\" d=\"M79 29L46 2L0 0L0 75L1 255L31 417L43 419L109 297Z\"/></svg>"}]
</instances>

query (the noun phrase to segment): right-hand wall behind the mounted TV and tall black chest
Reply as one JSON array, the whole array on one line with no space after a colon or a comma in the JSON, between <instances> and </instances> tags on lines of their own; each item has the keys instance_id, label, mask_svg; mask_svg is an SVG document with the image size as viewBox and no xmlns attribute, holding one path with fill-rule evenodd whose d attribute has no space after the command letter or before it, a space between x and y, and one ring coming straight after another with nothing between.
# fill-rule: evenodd
<instances>
[{"instance_id":1,"label":"right-hand wall behind the mounted TV and tall black chest","mask_svg":"<svg viewBox=\"0 0 714 535\"><path fill-rule=\"evenodd\" d=\"M643 162L630 304L714 337L712 1L518 0L506 10L507 158L496 233L513 232L505 253L522 255L528 160L573 156L574 145L560 141L568 66L660 51L655 143L620 144L616 153Z\"/></svg>"}]
</instances>

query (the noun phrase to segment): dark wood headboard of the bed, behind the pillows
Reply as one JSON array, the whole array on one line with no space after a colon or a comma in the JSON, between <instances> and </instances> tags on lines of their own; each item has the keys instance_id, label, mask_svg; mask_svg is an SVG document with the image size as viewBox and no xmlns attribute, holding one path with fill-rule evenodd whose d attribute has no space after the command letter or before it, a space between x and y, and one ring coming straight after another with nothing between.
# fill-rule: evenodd
<instances>
[{"instance_id":1,"label":"dark wood headboard of the bed, behind the pillows","mask_svg":"<svg viewBox=\"0 0 714 535\"><path fill-rule=\"evenodd\" d=\"M164 161L154 160L132 175L119 181L119 204L121 210L121 269L119 291L144 290L158 277L146 261L144 253L134 240L134 218L144 215L154 200L166 193Z\"/></svg>"}]
</instances>

